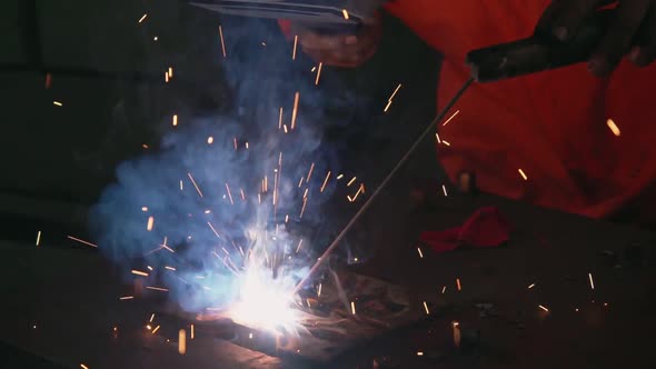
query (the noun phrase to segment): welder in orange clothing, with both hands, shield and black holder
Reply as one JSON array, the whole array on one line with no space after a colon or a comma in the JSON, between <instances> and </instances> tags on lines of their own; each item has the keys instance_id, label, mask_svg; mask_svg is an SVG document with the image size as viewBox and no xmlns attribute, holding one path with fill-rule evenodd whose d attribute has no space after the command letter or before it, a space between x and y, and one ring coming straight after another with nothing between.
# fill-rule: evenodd
<instances>
[{"instance_id":1,"label":"welder in orange clothing, with both hands, shield and black holder","mask_svg":"<svg viewBox=\"0 0 656 369\"><path fill-rule=\"evenodd\" d=\"M358 67L375 54L385 27L380 12L388 12L443 56L436 66L438 110L459 113L439 127L448 144L438 142L437 154L454 183L475 178L485 192L656 226L650 206L656 199L656 108L650 98L656 86L656 1L205 6L278 18L290 42L317 62L340 68ZM450 101L469 79L476 82Z\"/></svg>"}]
</instances>

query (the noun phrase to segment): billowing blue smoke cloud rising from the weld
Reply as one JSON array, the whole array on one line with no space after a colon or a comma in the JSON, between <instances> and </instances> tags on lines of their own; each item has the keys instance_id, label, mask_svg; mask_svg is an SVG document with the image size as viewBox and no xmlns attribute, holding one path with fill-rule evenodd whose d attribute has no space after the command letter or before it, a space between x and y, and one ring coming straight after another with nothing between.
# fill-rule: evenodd
<instances>
[{"instance_id":1,"label":"billowing blue smoke cloud rising from the weld","mask_svg":"<svg viewBox=\"0 0 656 369\"><path fill-rule=\"evenodd\" d=\"M216 42L217 60L222 60L235 94L233 109L186 117L177 127L167 118L160 149L119 164L116 183L102 192L90 217L101 251L125 267L126 278L133 278L130 269L150 267L148 283L163 285L188 311L233 301L236 273L249 250L264 243L271 258L280 258L272 272L291 280L307 272L316 260L311 240L304 239L297 252L300 239L309 235L290 229L301 221L302 229L326 225L321 206L340 169L336 147L322 143L321 122L327 109L357 103L344 89L339 96L326 96L315 86L310 64L292 62L290 47L274 47L270 33L267 47L255 40L252 34L267 30L262 23L240 22L223 24L227 59ZM300 103L291 130L297 91ZM289 133L279 129L280 107ZM320 192L328 170L331 181ZM268 191L262 191L265 177Z\"/></svg>"}]
</instances>

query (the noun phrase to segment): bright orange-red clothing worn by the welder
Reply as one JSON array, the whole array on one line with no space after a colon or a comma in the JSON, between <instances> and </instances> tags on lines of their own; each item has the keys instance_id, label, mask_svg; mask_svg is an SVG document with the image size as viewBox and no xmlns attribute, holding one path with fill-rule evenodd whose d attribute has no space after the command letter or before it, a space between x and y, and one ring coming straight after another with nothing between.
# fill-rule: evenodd
<instances>
[{"instance_id":1,"label":"bright orange-red clothing worn by the welder","mask_svg":"<svg viewBox=\"0 0 656 369\"><path fill-rule=\"evenodd\" d=\"M469 77L469 50L530 36L549 2L396 0L386 10L444 53L439 109ZM471 86L454 107L460 112L439 127L450 146L438 144L438 157L451 180L471 171L486 192L656 225L656 63L623 61L605 79L586 67Z\"/></svg>"}]
</instances>

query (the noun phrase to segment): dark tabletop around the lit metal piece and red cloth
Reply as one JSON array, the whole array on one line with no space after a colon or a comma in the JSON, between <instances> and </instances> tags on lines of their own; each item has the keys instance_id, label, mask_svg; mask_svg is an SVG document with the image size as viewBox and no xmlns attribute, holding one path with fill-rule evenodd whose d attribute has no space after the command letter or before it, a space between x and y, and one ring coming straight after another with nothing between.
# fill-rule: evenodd
<instances>
[{"instance_id":1,"label":"dark tabletop around the lit metal piece and red cloth","mask_svg":"<svg viewBox=\"0 0 656 369\"><path fill-rule=\"evenodd\" d=\"M328 367L371 368L376 360L381 368L646 368L654 359L654 235L487 196L449 196L407 220L376 209L389 209L395 201L372 207L376 216L362 227L378 225L368 232L377 247L370 260L350 269L404 286L417 297L417 309L424 309L420 301L427 295L444 305L426 321L357 348ZM420 230L457 226L483 206L498 206L515 227L507 246L443 255L425 249L419 258L414 240ZM202 333L180 356L172 342L179 327L162 327L158 337L145 330L125 333L150 312L137 300L118 300L125 290L116 270L95 249L43 235L39 248L2 242L0 250L0 341L63 367L309 366ZM447 288L440 295L443 286ZM466 346L460 350L451 343L455 320Z\"/></svg>"}]
</instances>

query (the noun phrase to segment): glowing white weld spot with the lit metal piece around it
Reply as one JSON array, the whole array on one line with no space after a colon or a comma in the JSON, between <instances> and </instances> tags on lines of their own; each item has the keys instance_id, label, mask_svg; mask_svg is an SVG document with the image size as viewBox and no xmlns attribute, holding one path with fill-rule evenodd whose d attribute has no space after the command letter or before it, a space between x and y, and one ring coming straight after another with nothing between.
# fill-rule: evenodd
<instances>
[{"instance_id":1,"label":"glowing white weld spot with the lit metal piece around it","mask_svg":"<svg viewBox=\"0 0 656 369\"><path fill-rule=\"evenodd\" d=\"M424 306L410 306L399 287L349 272L328 272L302 297L294 286L276 286L266 276L245 276L241 299L223 311L197 317L200 326L232 326L221 338L271 356L300 356L322 362L427 317ZM435 307L436 301L427 302Z\"/></svg>"}]
</instances>

